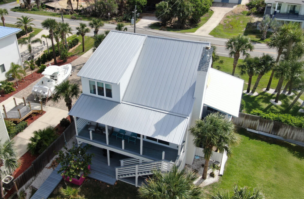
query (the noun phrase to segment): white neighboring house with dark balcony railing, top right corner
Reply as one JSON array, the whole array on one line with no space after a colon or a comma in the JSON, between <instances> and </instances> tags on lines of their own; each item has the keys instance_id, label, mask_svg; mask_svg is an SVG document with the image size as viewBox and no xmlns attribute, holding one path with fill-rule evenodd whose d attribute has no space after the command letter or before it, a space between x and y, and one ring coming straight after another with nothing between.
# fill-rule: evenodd
<instances>
[{"instance_id":1,"label":"white neighboring house with dark balcony railing, top right corner","mask_svg":"<svg viewBox=\"0 0 304 199\"><path fill-rule=\"evenodd\" d=\"M304 29L304 2L302 0L265 0L265 15L281 23L299 22Z\"/></svg>"}]
</instances>

